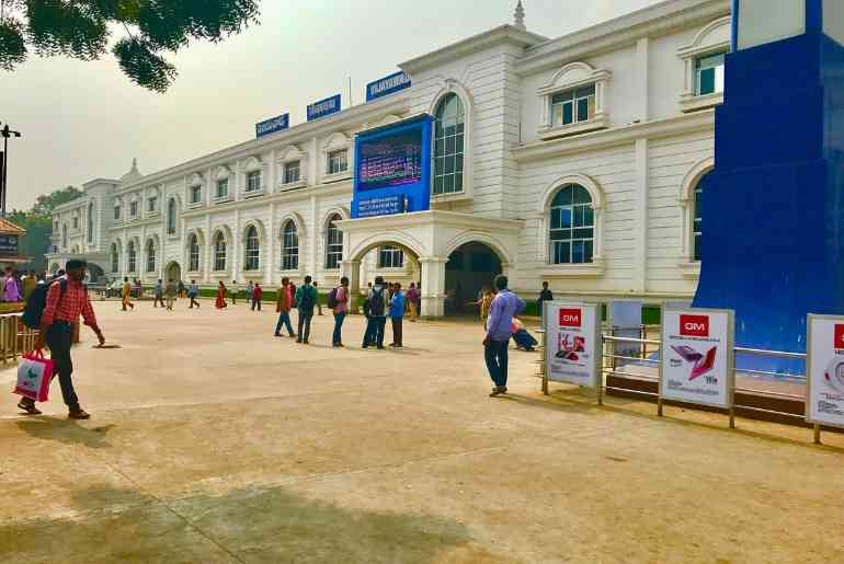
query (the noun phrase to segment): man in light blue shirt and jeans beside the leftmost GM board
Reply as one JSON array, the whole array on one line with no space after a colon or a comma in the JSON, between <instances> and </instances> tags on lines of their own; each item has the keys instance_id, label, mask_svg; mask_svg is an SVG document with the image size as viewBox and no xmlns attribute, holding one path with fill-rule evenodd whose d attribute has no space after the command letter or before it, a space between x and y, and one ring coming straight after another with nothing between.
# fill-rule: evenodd
<instances>
[{"instance_id":1,"label":"man in light blue shirt and jeans beside the leftmost GM board","mask_svg":"<svg viewBox=\"0 0 844 564\"><path fill-rule=\"evenodd\" d=\"M512 336L513 315L525 310L525 302L507 289L507 277L500 274L493 283L498 295L490 306L487 335L483 337L484 360L495 387L491 398L507 393L507 345Z\"/></svg>"}]
</instances>

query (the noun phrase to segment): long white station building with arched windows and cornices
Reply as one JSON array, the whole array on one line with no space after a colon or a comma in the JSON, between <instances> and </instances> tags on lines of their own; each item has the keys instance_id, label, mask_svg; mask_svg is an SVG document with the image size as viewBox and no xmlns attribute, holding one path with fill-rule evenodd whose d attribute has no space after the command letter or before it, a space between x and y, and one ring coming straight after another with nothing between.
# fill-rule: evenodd
<instances>
[{"instance_id":1,"label":"long white station building with arched windows and cornices","mask_svg":"<svg viewBox=\"0 0 844 564\"><path fill-rule=\"evenodd\" d=\"M500 272L527 298L547 280L563 298L687 300L730 3L668 0L548 38L520 2L513 24L400 64L409 88L85 183L55 211L49 266L209 287L312 275L323 291L381 275L421 281L432 316ZM355 135L419 114L435 117L430 209L352 219Z\"/></svg>"}]
</instances>

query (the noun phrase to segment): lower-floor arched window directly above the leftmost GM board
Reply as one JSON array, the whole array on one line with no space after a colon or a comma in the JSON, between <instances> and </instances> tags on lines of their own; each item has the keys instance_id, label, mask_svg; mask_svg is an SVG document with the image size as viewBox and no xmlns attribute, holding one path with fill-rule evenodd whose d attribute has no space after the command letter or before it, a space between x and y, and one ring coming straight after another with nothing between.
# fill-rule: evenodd
<instances>
[{"instance_id":1,"label":"lower-floor arched window directly above the leftmost GM board","mask_svg":"<svg viewBox=\"0 0 844 564\"><path fill-rule=\"evenodd\" d=\"M551 202L548 241L551 264L592 262L595 211L592 196L579 184L562 186Z\"/></svg>"}]
</instances>

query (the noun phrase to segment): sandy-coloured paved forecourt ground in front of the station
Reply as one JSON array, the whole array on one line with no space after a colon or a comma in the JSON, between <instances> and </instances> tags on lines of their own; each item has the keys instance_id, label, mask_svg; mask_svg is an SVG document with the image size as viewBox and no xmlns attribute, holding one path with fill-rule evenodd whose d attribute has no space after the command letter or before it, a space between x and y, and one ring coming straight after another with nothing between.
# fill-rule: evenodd
<instances>
[{"instance_id":1,"label":"sandy-coloured paved forecourt ground in front of the station","mask_svg":"<svg viewBox=\"0 0 844 564\"><path fill-rule=\"evenodd\" d=\"M844 437L539 393L490 399L478 326L402 352L271 336L274 314L98 304L94 417L0 418L0 562L842 562ZM357 345L360 319L346 342ZM13 370L0 372L11 388Z\"/></svg>"}]
</instances>

